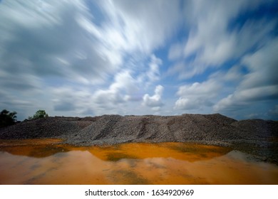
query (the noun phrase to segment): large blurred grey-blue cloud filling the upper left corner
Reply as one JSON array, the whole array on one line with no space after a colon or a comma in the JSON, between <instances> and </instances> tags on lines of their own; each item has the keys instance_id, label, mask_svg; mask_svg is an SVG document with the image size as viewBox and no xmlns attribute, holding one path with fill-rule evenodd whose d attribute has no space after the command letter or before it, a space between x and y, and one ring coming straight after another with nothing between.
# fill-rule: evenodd
<instances>
[{"instance_id":1,"label":"large blurred grey-blue cloud filling the upper left corner","mask_svg":"<svg viewBox=\"0 0 278 199\"><path fill-rule=\"evenodd\" d=\"M0 9L4 72L93 83L118 68L79 23L91 18L83 1L4 1Z\"/></svg>"}]
</instances>

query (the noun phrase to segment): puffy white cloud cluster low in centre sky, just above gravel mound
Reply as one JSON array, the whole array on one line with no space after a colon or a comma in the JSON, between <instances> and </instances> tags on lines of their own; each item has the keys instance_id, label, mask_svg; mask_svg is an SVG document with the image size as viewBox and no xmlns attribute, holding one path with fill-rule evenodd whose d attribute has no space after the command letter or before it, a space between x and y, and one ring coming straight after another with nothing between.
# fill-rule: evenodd
<instances>
[{"instance_id":1,"label":"puffy white cloud cluster low in centre sky, just above gravel mound","mask_svg":"<svg viewBox=\"0 0 278 199\"><path fill-rule=\"evenodd\" d=\"M152 107L149 109L148 114L158 112L160 106L163 105L161 102L163 87L158 85L153 96L148 94L143 96L142 93L154 81L159 80L159 65L161 64L162 60L155 55L150 55L149 68L145 72L143 71L137 76L133 76L132 70L126 69L115 74L114 81L108 89L99 89L94 92L92 102L95 104L95 109L102 113L105 113L108 109L113 109L113 113L125 112L125 114L128 114L128 110L120 107L125 107L126 109L128 106L132 106L130 104L138 103L143 99L143 107ZM144 109L143 107L142 109Z\"/></svg>"}]
</instances>

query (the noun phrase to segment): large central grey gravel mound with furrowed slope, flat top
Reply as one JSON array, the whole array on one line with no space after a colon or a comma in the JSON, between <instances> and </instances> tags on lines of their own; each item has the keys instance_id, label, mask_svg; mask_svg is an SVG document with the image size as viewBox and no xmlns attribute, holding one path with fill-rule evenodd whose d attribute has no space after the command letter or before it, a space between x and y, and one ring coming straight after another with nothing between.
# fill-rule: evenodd
<instances>
[{"instance_id":1,"label":"large central grey gravel mound with furrowed slope, flat top","mask_svg":"<svg viewBox=\"0 0 278 199\"><path fill-rule=\"evenodd\" d=\"M104 115L71 134L69 144L118 144L123 142L200 141L211 144L244 139L247 130L237 120L221 114L180 116Z\"/></svg>"}]
</instances>

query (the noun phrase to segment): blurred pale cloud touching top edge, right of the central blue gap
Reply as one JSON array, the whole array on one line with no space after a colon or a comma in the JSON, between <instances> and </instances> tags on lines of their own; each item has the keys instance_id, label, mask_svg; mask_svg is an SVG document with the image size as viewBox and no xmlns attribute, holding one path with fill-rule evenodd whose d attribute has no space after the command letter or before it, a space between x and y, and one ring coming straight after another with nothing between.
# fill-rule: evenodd
<instances>
[{"instance_id":1,"label":"blurred pale cloud touching top edge, right of the central blue gap","mask_svg":"<svg viewBox=\"0 0 278 199\"><path fill-rule=\"evenodd\" d=\"M195 23L185 44L185 55L197 53L205 64L218 65L232 57L237 38L227 30L230 20L247 9L249 1L194 1L190 23ZM197 21L196 21L197 19Z\"/></svg>"}]
</instances>

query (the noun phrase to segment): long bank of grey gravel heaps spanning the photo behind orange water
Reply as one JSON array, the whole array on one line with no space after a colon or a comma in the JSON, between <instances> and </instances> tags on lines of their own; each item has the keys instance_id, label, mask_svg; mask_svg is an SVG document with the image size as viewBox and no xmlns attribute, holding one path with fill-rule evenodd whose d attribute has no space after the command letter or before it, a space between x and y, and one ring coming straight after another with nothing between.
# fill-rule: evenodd
<instances>
[{"instance_id":1,"label":"long bank of grey gravel heaps spanning the photo behind orange water","mask_svg":"<svg viewBox=\"0 0 278 199\"><path fill-rule=\"evenodd\" d=\"M0 139L61 138L78 146L124 142L197 142L230 146L277 163L278 122L222 114L48 117L0 129Z\"/></svg>"}]
</instances>

